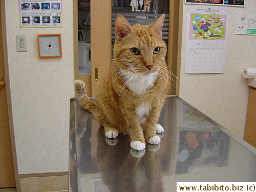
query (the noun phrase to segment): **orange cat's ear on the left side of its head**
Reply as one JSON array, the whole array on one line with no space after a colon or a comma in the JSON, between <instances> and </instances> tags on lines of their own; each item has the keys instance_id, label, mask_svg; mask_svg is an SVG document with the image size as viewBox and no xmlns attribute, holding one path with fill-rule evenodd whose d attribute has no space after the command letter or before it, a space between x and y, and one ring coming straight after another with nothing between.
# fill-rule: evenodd
<instances>
[{"instance_id":1,"label":"orange cat's ear on the left side of its head","mask_svg":"<svg viewBox=\"0 0 256 192\"><path fill-rule=\"evenodd\" d=\"M132 31L132 27L122 15L117 15L115 30L116 30L116 38L118 40L122 40L123 37L125 37L127 34L129 34Z\"/></svg>"}]
</instances>

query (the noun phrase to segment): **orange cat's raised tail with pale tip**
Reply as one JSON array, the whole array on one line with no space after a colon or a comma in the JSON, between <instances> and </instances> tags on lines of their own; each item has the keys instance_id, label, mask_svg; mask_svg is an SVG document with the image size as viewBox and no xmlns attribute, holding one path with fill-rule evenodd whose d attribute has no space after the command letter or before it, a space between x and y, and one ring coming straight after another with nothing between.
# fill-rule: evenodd
<instances>
[{"instance_id":1,"label":"orange cat's raised tail with pale tip","mask_svg":"<svg viewBox=\"0 0 256 192\"><path fill-rule=\"evenodd\" d=\"M92 102L90 98L88 97L86 93L86 83L84 83L82 80L77 79L74 81L75 87L76 87L76 93L78 100L80 102L80 105L90 111L92 114L94 114L96 110L96 103Z\"/></svg>"}]
</instances>

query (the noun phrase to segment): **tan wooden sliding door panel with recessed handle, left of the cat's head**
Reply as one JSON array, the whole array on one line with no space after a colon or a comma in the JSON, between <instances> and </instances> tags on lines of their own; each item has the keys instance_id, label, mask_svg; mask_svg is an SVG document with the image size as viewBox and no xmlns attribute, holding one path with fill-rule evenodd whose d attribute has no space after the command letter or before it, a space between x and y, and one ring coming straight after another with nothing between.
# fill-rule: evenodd
<instances>
[{"instance_id":1,"label":"tan wooden sliding door panel with recessed handle, left of the cat's head","mask_svg":"<svg viewBox=\"0 0 256 192\"><path fill-rule=\"evenodd\" d=\"M92 96L109 73L111 60L111 0L91 1ZM99 46L100 45L100 46ZM97 69L97 70L96 70ZM97 77L96 77L97 74Z\"/></svg>"}]
</instances>

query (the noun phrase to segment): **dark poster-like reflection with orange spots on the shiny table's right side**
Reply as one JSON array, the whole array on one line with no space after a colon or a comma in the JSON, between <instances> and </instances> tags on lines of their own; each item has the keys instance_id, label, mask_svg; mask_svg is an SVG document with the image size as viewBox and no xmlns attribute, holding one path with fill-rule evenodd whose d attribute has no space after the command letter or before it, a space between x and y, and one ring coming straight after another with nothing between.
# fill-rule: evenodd
<instances>
[{"instance_id":1,"label":"dark poster-like reflection with orange spots on the shiny table's right side","mask_svg":"<svg viewBox=\"0 0 256 192\"><path fill-rule=\"evenodd\" d=\"M223 132L179 131L179 147L175 174L193 169L228 165L229 136Z\"/></svg>"}]
</instances>

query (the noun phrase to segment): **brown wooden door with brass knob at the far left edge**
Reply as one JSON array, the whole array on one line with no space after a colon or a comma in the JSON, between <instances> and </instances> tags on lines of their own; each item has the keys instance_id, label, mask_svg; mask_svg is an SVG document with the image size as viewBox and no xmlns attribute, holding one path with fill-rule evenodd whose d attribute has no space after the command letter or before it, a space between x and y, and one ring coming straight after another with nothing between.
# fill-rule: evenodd
<instances>
[{"instance_id":1,"label":"brown wooden door with brass knob at the far left edge","mask_svg":"<svg viewBox=\"0 0 256 192\"><path fill-rule=\"evenodd\" d=\"M0 3L0 7L3 4ZM3 13L1 11L1 13ZM7 110L6 78L4 69L2 15L0 14L0 188L15 187L11 136Z\"/></svg>"}]
</instances>

